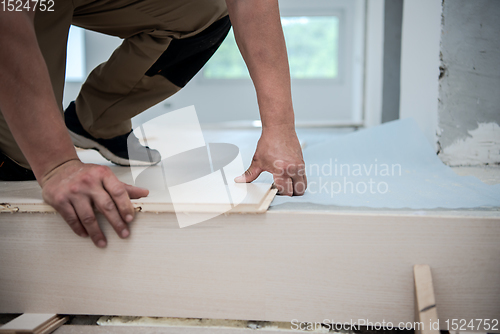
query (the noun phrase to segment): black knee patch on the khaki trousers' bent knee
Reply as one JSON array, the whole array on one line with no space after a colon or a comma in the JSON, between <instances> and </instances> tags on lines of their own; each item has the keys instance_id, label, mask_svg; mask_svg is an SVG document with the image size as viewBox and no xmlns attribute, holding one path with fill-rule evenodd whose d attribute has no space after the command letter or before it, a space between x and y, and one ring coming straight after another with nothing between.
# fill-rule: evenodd
<instances>
[{"instance_id":1,"label":"black knee patch on the khaki trousers' bent knee","mask_svg":"<svg viewBox=\"0 0 500 334\"><path fill-rule=\"evenodd\" d=\"M184 87L217 51L230 29L231 21L225 16L195 36L174 39L146 75L163 75Z\"/></svg>"}]
</instances>

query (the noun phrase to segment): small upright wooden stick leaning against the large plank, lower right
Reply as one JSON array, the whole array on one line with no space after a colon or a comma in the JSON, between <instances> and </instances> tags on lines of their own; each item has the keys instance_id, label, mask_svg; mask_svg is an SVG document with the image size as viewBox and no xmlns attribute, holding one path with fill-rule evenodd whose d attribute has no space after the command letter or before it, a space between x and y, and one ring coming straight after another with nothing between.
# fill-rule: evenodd
<instances>
[{"instance_id":1,"label":"small upright wooden stick leaning against the large plank, lower right","mask_svg":"<svg viewBox=\"0 0 500 334\"><path fill-rule=\"evenodd\" d=\"M439 326L434 329L438 321L436 298L432 285L431 268L426 264L417 264L413 267L415 279L415 321L420 328L415 328L416 334L439 334Z\"/></svg>"}]
</instances>

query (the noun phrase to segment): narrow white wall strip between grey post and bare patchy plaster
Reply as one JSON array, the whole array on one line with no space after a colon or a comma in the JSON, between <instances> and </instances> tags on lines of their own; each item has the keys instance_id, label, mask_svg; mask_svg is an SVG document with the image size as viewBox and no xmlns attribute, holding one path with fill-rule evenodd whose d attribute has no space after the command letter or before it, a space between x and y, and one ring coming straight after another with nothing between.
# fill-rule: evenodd
<instances>
[{"instance_id":1,"label":"narrow white wall strip between grey post and bare patchy plaster","mask_svg":"<svg viewBox=\"0 0 500 334\"><path fill-rule=\"evenodd\" d=\"M405 0L400 118L413 117L437 149L442 0Z\"/></svg>"}]
</instances>

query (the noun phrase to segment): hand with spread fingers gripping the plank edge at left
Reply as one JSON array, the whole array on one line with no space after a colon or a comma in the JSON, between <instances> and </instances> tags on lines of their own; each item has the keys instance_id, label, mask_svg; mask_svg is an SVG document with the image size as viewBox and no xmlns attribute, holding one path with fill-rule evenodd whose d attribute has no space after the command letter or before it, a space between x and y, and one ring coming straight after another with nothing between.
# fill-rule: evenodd
<instances>
[{"instance_id":1,"label":"hand with spread fingers gripping the plank edge at left","mask_svg":"<svg viewBox=\"0 0 500 334\"><path fill-rule=\"evenodd\" d=\"M131 198L149 191L118 180L105 166L71 160L55 168L41 180L45 202L53 206L73 231L90 238L97 247L106 247L106 237L97 223L93 207L100 211L121 238L130 235L128 223L134 219Z\"/></svg>"}]
</instances>

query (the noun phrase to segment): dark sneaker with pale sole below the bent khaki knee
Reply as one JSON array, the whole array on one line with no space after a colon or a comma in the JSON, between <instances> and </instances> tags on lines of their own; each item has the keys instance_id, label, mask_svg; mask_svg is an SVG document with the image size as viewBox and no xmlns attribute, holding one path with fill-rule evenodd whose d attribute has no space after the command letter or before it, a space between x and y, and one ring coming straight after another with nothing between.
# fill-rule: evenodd
<instances>
[{"instance_id":1,"label":"dark sneaker with pale sole below the bent khaki knee","mask_svg":"<svg viewBox=\"0 0 500 334\"><path fill-rule=\"evenodd\" d=\"M111 139L94 138L80 123L74 102L66 109L64 121L76 147L99 151L112 163L120 166L152 166L161 161L160 152L142 146L132 131Z\"/></svg>"}]
</instances>

